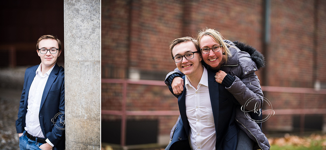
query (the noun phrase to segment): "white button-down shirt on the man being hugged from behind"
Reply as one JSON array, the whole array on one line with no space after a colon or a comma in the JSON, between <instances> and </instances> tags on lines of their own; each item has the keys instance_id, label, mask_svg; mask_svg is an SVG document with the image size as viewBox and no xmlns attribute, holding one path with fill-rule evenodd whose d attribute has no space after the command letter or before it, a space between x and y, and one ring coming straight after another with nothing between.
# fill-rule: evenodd
<instances>
[{"instance_id":1,"label":"white button-down shirt on the man being hugged from behind","mask_svg":"<svg viewBox=\"0 0 326 150\"><path fill-rule=\"evenodd\" d=\"M216 132L206 68L204 67L197 89L190 84L187 77L185 88L186 115L190 124L190 146L192 149L214 150Z\"/></svg>"}]
</instances>

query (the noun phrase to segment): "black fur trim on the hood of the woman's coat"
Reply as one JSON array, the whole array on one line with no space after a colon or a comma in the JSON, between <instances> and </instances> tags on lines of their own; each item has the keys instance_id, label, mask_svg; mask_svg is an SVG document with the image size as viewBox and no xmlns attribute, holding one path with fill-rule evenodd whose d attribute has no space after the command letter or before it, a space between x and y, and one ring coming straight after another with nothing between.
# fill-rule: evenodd
<instances>
[{"instance_id":1,"label":"black fur trim on the hood of the woman's coat","mask_svg":"<svg viewBox=\"0 0 326 150\"><path fill-rule=\"evenodd\" d=\"M241 51L247 52L250 55L251 60L253 60L256 63L257 69L261 69L265 67L266 65L265 58L256 48L250 45L246 45L245 43L239 41L234 41L233 43Z\"/></svg>"}]
</instances>

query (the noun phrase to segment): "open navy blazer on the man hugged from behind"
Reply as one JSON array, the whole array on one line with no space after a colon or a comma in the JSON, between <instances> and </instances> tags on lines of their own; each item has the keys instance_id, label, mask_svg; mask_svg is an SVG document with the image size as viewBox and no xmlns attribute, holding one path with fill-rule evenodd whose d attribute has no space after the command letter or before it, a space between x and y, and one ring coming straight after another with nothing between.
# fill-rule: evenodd
<instances>
[{"instance_id":1,"label":"open navy blazer on the man hugged from behind","mask_svg":"<svg viewBox=\"0 0 326 150\"><path fill-rule=\"evenodd\" d=\"M215 148L235 150L238 143L238 129L234 123L236 108L234 102L236 102L236 100L224 86L215 81L215 73L211 71L207 71L207 73L208 89L216 132ZM185 76L182 78L185 80ZM169 89L173 93L171 85ZM190 125L185 111L185 95L186 90L184 90L181 95L175 95L178 98L181 119L174 130L170 150L190 149L188 140Z\"/></svg>"}]
</instances>

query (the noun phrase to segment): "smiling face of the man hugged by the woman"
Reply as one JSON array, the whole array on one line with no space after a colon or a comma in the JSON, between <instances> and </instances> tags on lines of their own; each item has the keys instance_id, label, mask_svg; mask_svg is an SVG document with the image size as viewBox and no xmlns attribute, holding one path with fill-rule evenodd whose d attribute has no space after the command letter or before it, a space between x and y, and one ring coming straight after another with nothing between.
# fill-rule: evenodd
<instances>
[{"instance_id":1,"label":"smiling face of the man hugged by the woman","mask_svg":"<svg viewBox=\"0 0 326 150\"><path fill-rule=\"evenodd\" d=\"M173 56L182 56L189 52L195 52L197 51L195 45L191 41L183 42L180 44L177 44L172 49L172 55ZM201 61L202 58L200 56L200 53L194 53L194 58L192 59L185 59L185 57L182 58L181 62L176 62L175 65L178 67L178 69L185 75L194 75L198 73L198 69L202 67Z\"/></svg>"}]
</instances>

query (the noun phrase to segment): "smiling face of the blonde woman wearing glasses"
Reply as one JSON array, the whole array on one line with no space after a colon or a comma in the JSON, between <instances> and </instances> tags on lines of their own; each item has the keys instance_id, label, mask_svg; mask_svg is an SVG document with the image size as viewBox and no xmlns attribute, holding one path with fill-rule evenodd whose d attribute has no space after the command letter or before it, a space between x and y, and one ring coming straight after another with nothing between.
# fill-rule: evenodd
<instances>
[{"instance_id":1,"label":"smiling face of the blonde woman wearing glasses","mask_svg":"<svg viewBox=\"0 0 326 150\"><path fill-rule=\"evenodd\" d=\"M200 49L201 48L213 48L215 46L219 46L220 44L218 44L212 36L210 35L204 35L200 38L199 40L199 45L200 45ZM209 51L209 53L207 54L201 54L202 55L202 59L205 61L205 63L208 64L208 66L210 66L210 68L214 69L214 70L219 70L219 68L221 67L221 65L223 64L223 54L222 52L224 51L223 47L221 47L221 50L218 52L214 52L212 50Z\"/></svg>"}]
</instances>

